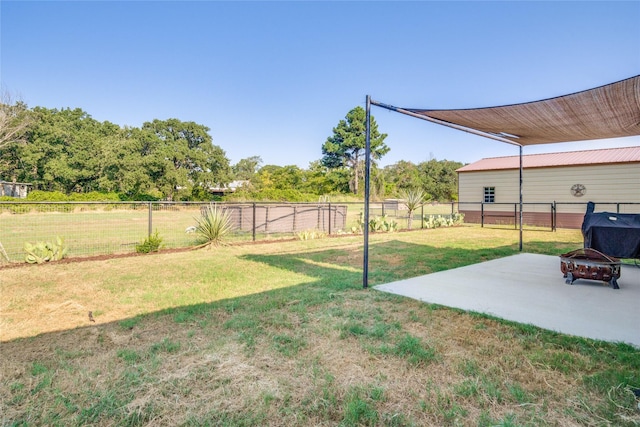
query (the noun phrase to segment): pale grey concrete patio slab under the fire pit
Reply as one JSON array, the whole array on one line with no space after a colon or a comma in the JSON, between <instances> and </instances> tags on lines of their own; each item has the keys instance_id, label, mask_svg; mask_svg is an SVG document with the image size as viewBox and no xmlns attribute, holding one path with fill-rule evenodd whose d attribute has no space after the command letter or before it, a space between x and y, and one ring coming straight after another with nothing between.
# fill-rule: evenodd
<instances>
[{"instance_id":1,"label":"pale grey concrete patio slab under the fire pit","mask_svg":"<svg viewBox=\"0 0 640 427\"><path fill-rule=\"evenodd\" d=\"M623 265L618 285L582 279L567 285L560 257L518 254L375 289L640 348L640 268Z\"/></svg>"}]
</instances>

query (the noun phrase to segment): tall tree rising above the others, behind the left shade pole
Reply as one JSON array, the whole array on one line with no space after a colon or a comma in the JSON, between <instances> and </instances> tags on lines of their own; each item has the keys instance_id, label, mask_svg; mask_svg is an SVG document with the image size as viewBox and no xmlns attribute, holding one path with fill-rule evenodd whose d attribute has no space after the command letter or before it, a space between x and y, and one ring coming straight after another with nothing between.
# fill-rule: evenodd
<instances>
[{"instance_id":1,"label":"tall tree rising above the others, behind the left shade pole","mask_svg":"<svg viewBox=\"0 0 640 427\"><path fill-rule=\"evenodd\" d=\"M389 152L384 143L387 134L378 131L378 124L371 116L371 161L380 160ZM333 128L333 135L322 145L324 166L331 169L351 170L351 191L358 194L359 179L364 170L366 146L366 112L358 106L349 111L344 120Z\"/></svg>"}]
</instances>

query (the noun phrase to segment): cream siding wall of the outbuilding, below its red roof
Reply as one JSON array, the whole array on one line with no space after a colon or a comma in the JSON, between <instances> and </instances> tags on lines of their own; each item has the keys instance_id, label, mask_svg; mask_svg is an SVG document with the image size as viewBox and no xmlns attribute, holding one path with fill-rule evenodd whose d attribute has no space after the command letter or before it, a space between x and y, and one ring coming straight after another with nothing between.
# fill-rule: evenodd
<instances>
[{"instance_id":1,"label":"cream siding wall of the outbuilding, below its red roof","mask_svg":"<svg viewBox=\"0 0 640 427\"><path fill-rule=\"evenodd\" d=\"M460 172L458 200L481 202L484 187L495 187L495 203L517 203L519 200L519 171L494 170ZM586 194L575 197L571 186L582 184ZM640 203L640 164L621 163L610 165L587 165L525 169L523 171L523 202L525 203L586 203L633 202ZM596 206L598 210L600 206ZM464 209L479 210L470 205ZM485 210L487 206L485 205ZM496 205L494 210L504 209ZM584 212L584 205L575 209L563 208L565 212ZM634 208L635 212L640 207Z\"/></svg>"}]
</instances>

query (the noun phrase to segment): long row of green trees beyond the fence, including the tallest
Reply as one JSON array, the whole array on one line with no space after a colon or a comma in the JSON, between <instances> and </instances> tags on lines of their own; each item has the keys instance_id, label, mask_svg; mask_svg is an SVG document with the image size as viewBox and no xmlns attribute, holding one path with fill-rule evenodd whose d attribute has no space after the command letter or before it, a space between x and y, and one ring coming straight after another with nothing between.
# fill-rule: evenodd
<instances>
[{"instance_id":1,"label":"long row of green trees beyond the fence, including the tallest","mask_svg":"<svg viewBox=\"0 0 640 427\"><path fill-rule=\"evenodd\" d=\"M232 181L235 198L318 200L335 194L362 195L365 115L356 107L333 128L322 158L307 169L263 165L259 156L231 164L210 129L175 118L121 127L93 119L82 109L28 108L0 102L0 180L64 194L116 193L123 200L211 200L212 189ZM371 192L395 197L422 189L432 200L457 199L460 162L400 161L381 168L389 151L386 134L371 121Z\"/></svg>"}]
</instances>

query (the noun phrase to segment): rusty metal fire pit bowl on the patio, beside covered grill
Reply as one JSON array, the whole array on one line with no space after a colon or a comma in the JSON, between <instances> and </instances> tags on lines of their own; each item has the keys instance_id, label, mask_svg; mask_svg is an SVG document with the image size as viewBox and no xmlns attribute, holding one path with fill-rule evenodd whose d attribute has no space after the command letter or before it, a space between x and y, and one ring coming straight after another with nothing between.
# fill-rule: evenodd
<instances>
[{"instance_id":1,"label":"rusty metal fire pit bowl on the patio, beside covered grill","mask_svg":"<svg viewBox=\"0 0 640 427\"><path fill-rule=\"evenodd\" d=\"M565 283L572 285L576 279L598 280L620 289L620 260L595 249L576 249L560 255L560 271Z\"/></svg>"}]
</instances>

